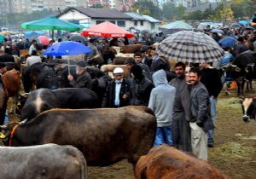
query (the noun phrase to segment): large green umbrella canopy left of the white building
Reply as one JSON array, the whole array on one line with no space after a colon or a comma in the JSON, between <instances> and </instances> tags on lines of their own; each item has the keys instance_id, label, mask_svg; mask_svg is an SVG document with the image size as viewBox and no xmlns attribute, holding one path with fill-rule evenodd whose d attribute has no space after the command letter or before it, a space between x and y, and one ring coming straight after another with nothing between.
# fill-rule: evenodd
<instances>
[{"instance_id":1,"label":"large green umbrella canopy left of the white building","mask_svg":"<svg viewBox=\"0 0 256 179\"><path fill-rule=\"evenodd\" d=\"M70 23L65 20L59 20L55 16L50 16L42 20L33 20L20 24L24 29L32 30L63 30L63 31L80 31L81 26Z\"/></svg>"}]
</instances>

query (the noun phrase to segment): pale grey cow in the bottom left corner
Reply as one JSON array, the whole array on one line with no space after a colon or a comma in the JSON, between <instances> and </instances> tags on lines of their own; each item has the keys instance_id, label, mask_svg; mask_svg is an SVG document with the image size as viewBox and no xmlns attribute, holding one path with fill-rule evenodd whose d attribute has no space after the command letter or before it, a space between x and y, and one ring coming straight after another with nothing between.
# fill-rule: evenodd
<instances>
[{"instance_id":1,"label":"pale grey cow in the bottom left corner","mask_svg":"<svg viewBox=\"0 0 256 179\"><path fill-rule=\"evenodd\" d=\"M73 146L0 147L0 153L0 178L87 178L84 156Z\"/></svg>"}]
</instances>

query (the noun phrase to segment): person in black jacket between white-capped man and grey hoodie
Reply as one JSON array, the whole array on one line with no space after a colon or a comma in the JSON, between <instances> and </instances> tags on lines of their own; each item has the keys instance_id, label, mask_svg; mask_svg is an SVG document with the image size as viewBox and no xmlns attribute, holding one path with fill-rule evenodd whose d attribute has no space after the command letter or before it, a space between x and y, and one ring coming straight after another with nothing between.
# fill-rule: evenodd
<instances>
[{"instance_id":1,"label":"person in black jacket between white-capped man and grey hoodie","mask_svg":"<svg viewBox=\"0 0 256 179\"><path fill-rule=\"evenodd\" d=\"M131 67L131 105L146 106L154 84L143 75L143 69L139 65Z\"/></svg>"}]
</instances>

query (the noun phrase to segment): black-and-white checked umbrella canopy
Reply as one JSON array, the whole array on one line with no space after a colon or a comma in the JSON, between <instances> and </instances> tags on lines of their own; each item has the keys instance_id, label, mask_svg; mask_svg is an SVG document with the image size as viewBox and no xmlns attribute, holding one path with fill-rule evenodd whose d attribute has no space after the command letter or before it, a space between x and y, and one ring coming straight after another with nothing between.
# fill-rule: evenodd
<instances>
[{"instance_id":1,"label":"black-and-white checked umbrella canopy","mask_svg":"<svg viewBox=\"0 0 256 179\"><path fill-rule=\"evenodd\" d=\"M176 61L201 63L218 61L224 50L204 33L182 31L163 40L158 54Z\"/></svg>"}]
</instances>

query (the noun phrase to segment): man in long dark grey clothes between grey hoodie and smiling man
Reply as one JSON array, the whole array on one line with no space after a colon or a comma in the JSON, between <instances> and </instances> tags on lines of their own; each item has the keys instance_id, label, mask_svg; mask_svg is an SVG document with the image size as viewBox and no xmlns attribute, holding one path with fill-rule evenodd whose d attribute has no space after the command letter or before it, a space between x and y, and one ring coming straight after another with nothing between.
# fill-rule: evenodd
<instances>
[{"instance_id":1,"label":"man in long dark grey clothes between grey hoodie and smiling man","mask_svg":"<svg viewBox=\"0 0 256 179\"><path fill-rule=\"evenodd\" d=\"M186 66L183 62L177 62L175 73L177 78L170 84L176 88L172 119L172 140L175 147L183 151L191 152L191 131L189 127L190 101L189 86L185 78Z\"/></svg>"}]
</instances>

